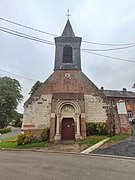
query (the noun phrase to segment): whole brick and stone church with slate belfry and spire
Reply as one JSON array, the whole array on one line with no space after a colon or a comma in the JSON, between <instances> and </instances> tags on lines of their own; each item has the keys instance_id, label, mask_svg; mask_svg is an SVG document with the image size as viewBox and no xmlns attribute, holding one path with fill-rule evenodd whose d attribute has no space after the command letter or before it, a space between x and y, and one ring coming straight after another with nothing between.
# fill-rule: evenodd
<instances>
[{"instance_id":1,"label":"whole brick and stone church with slate belfry and spire","mask_svg":"<svg viewBox=\"0 0 135 180\"><path fill-rule=\"evenodd\" d=\"M109 101L82 72L81 37L68 20L55 38L54 72L25 102L22 131L50 129L50 141L86 139L86 123L111 126Z\"/></svg>"}]
</instances>

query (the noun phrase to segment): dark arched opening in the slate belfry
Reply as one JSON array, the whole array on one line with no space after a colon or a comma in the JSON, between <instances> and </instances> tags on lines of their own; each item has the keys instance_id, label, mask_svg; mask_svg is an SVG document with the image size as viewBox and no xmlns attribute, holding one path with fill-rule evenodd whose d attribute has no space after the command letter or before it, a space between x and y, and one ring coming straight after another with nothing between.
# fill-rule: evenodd
<instances>
[{"instance_id":1,"label":"dark arched opening in the slate belfry","mask_svg":"<svg viewBox=\"0 0 135 180\"><path fill-rule=\"evenodd\" d=\"M63 48L63 63L71 63L72 62L72 47L64 46Z\"/></svg>"}]
</instances>

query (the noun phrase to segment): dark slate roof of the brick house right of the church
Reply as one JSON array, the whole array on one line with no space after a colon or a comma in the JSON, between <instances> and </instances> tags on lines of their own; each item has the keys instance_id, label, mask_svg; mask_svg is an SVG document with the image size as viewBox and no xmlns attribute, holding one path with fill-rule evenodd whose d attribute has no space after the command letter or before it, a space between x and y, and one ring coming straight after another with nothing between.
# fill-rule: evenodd
<instances>
[{"instance_id":1,"label":"dark slate roof of the brick house right of the church","mask_svg":"<svg viewBox=\"0 0 135 180\"><path fill-rule=\"evenodd\" d=\"M118 98L135 98L135 93L132 91L118 91L118 90L101 90L107 97Z\"/></svg>"}]
</instances>

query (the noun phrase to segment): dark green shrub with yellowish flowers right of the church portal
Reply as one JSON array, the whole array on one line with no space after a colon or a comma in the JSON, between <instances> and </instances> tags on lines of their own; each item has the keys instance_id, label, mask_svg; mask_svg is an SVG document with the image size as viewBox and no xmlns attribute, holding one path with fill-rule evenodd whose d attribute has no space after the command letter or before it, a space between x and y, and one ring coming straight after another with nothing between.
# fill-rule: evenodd
<instances>
[{"instance_id":1,"label":"dark green shrub with yellowish flowers right of the church portal","mask_svg":"<svg viewBox=\"0 0 135 180\"><path fill-rule=\"evenodd\" d=\"M106 123L87 123L86 134L90 135L107 135Z\"/></svg>"}]
</instances>

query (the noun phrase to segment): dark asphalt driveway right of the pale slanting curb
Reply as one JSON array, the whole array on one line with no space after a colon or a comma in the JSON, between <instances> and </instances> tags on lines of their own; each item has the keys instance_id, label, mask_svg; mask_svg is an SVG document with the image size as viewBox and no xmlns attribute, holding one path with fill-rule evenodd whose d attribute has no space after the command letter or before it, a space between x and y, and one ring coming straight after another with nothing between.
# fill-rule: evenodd
<instances>
[{"instance_id":1,"label":"dark asphalt driveway right of the pale slanting curb","mask_svg":"<svg viewBox=\"0 0 135 180\"><path fill-rule=\"evenodd\" d=\"M135 157L135 125L132 125L133 136L107 148L99 147L92 153Z\"/></svg>"}]
</instances>

